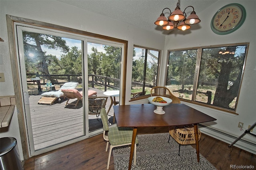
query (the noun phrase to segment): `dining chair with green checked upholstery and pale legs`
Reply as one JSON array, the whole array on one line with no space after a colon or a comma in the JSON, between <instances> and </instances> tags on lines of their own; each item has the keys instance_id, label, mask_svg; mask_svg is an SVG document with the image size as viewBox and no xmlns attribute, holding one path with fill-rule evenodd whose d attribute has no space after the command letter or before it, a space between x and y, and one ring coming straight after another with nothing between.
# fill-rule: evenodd
<instances>
[{"instance_id":1,"label":"dining chair with green checked upholstery and pale legs","mask_svg":"<svg viewBox=\"0 0 256 170\"><path fill-rule=\"evenodd\" d=\"M109 154L108 154L108 164L107 164L107 169L108 169L110 164L112 148L132 144L132 128L109 127L108 116L105 108L101 109L100 117L103 124L103 138L104 140L107 141L106 152L108 151L108 143L110 143ZM136 165L136 144L138 144L137 138L135 140L135 145L134 145L134 165Z\"/></svg>"}]
</instances>

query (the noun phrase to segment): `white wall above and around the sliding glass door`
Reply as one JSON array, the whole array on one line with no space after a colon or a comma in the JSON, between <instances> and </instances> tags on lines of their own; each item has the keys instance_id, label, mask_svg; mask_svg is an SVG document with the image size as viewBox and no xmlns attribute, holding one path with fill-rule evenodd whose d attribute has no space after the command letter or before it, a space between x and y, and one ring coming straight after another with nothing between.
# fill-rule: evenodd
<instances>
[{"instance_id":1,"label":"white wall above and around the sliding glass door","mask_svg":"<svg viewBox=\"0 0 256 170\"><path fill-rule=\"evenodd\" d=\"M127 40L127 70L132 69L134 44L164 49L164 35L154 34L141 28L135 28L132 25L106 18L105 16L100 16L92 12L87 12L58 1L0 0L0 37L4 40L4 42L0 42L0 54L3 56L4 61L4 64L0 65L0 72L5 74L5 82L0 83L0 96L14 95L6 14ZM93 19L91 19L92 16ZM95 18L98 18L98 20L95 20ZM126 92L128 94L130 94L131 74L131 71L127 71L128 88ZM129 96L130 95L128 95L126 101L130 99ZM11 136L17 138L19 152L22 153L18 129L18 117L17 111L15 111L11 120L11 127L4 132L1 131L0 135L1 137ZM23 156L21 156L21 159L23 160Z\"/></svg>"}]
</instances>

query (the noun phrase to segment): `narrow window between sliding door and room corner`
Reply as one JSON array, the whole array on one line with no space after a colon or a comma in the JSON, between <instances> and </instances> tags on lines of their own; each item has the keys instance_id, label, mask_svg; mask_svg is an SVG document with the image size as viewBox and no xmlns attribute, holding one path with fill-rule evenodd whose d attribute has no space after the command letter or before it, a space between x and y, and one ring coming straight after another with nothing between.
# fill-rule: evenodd
<instances>
[{"instance_id":1,"label":"narrow window between sliding door and room corner","mask_svg":"<svg viewBox=\"0 0 256 170\"><path fill-rule=\"evenodd\" d=\"M157 84L160 50L134 46L131 98L150 94Z\"/></svg>"}]
</instances>

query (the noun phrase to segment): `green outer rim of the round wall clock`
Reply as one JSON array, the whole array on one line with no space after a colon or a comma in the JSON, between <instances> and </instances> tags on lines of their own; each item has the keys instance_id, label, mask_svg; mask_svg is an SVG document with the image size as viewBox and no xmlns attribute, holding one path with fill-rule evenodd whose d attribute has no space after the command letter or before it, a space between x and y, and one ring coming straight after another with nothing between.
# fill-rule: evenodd
<instances>
[{"instance_id":1,"label":"green outer rim of the round wall clock","mask_svg":"<svg viewBox=\"0 0 256 170\"><path fill-rule=\"evenodd\" d=\"M224 31L224 32L220 32L218 30L215 30L214 26L213 26L213 21L214 21L214 17L216 16L216 14L222 10L223 8L226 8L227 6L238 6L238 8L240 8L242 10L242 16L241 16L241 20L239 21L239 23L234 27L232 28L231 30L228 30L228 31ZM222 8L220 8L215 14L214 16L212 17L212 20L211 20L211 29L212 31L215 33L215 34L218 34L218 35L226 35L226 34L230 34L234 31L236 31L238 28L240 28L240 26L242 26L242 24L244 24L244 21L245 21L245 18L246 18L246 10L244 8L244 6L242 6L241 4L236 4L236 3L232 3L232 4L228 4L228 5L225 5L223 6Z\"/></svg>"}]
</instances>

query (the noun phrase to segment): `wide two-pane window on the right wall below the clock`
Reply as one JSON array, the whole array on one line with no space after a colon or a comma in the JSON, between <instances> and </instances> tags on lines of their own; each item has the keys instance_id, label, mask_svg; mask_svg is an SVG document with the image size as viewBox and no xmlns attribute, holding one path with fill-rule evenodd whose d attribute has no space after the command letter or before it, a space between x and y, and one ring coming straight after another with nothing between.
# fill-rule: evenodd
<instances>
[{"instance_id":1,"label":"wide two-pane window on the right wall below the clock","mask_svg":"<svg viewBox=\"0 0 256 170\"><path fill-rule=\"evenodd\" d=\"M248 45L168 51L166 87L184 101L234 113Z\"/></svg>"}]
</instances>

